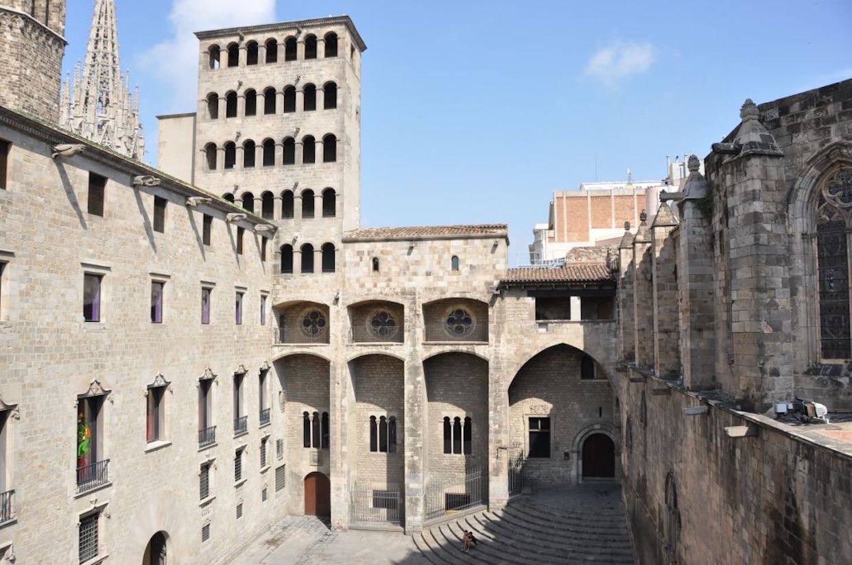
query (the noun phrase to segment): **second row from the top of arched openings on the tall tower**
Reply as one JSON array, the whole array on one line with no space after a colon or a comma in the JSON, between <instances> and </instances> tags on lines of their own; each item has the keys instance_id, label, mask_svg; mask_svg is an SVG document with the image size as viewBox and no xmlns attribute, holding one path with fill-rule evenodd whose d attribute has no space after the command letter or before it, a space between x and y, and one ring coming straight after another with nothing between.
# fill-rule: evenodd
<instances>
[{"instance_id":1,"label":"second row from the top of arched openings on the tall tower","mask_svg":"<svg viewBox=\"0 0 852 565\"><path fill-rule=\"evenodd\" d=\"M258 92L255 88L247 88L243 94L237 94L235 90L228 90L223 96L216 92L207 94L207 115L211 120L222 117L250 117L256 116L262 111L264 115L273 115L280 111L285 114L296 111L297 98L302 99L302 111L315 111L318 108L318 93L322 94L322 108L334 110L337 108L337 83L328 81L318 87L314 83L306 83L302 88L296 88L289 84L277 90L273 86L263 88ZM279 94L281 102L278 102ZM258 100L258 97L261 100ZM239 111L239 99L243 99L242 112ZM260 102L260 103L258 103ZM224 115L222 110L224 109Z\"/></svg>"}]
</instances>

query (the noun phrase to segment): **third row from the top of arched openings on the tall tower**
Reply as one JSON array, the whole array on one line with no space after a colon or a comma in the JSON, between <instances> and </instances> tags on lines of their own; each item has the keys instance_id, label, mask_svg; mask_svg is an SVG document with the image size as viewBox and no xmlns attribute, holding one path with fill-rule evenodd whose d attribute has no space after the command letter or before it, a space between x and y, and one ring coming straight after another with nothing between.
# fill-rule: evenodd
<instances>
[{"instance_id":1,"label":"third row from the top of arched openings on the tall tower","mask_svg":"<svg viewBox=\"0 0 852 565\"><path fill-rule=\"evenodd\" d=\"M204 146L205 165L210 171L219 168L220 152L222 152L222 168L225 170L255 168L258 163L262 167L274 167L277 164L295 165L296 161L302 164L313 164L317 162L317 144L322 145L320 149L322 163L337 163L337 135L325 134L322 140L317 140L313 135L305 135L301 141L285 137L280 144L271 138L263 140L260 144L257 144L255 140L245 140L239 146L233 141L226 141L222 147L211 142ZM278 147L281 148L280 159L276 156L279 152ZM297 149L301 151L296 151ZM241 157L238 157L238 150L242 153ZM296 153L301 153L301 156Z\"/></svg>"}]
</instances>

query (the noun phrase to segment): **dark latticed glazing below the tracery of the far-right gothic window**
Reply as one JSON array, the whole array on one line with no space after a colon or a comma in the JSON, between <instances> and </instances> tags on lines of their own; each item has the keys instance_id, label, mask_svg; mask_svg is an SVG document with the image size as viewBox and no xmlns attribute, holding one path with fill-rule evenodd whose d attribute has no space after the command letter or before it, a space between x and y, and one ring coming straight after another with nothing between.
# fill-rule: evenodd
<instances>
[{"instance_id":1,"label":"dark latticed glazing below the tracery of the far-right gothic window","mask_svg":"<svg viewBox=\"0 0 852 565\"><path fill-rule=\"evenodd\" d=\"M846 221L831 204L816 220L816 257L819 274L820 351L823 359L849 359L849 249Z\"/></svg>"}]
</instances>

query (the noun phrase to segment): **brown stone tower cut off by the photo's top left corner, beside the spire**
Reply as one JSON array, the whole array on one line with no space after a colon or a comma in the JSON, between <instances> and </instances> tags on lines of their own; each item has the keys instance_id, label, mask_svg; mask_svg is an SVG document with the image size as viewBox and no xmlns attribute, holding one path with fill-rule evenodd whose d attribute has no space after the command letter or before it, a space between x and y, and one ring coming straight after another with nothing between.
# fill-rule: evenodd
<instances>
[{"instance_id":1,"label":"brown stone tower cut off by the photo's top left corner, beside the spire","mask_svg":"<svg viewBox=\"0 0 852 565\"><path fill-rule=\"evenodd\" d=\"M0 0L0 106L56 122L65 0Z\"/></svg>"}]
</instances>

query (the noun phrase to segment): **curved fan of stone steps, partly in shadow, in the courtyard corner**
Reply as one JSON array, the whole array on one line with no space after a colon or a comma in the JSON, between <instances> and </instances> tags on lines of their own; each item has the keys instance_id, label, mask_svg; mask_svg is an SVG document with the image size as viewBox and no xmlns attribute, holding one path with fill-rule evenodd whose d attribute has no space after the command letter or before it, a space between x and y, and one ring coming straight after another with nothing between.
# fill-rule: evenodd
<instances>
[{"instance_id":1,"label":"curved fan of stone steps, partly in shadow, in the courtyard corner","mask_svg":"<svg viewBox=\"0 0 852 565\"><path fill-rule=\"evenodd\" d=\"M620 497L616 504L608 496L613 488L604 489L609 490L606 502L601 504L598 500L594 505L587 504L594 499L594 487L581 489L579 496L573 489L572 499L554 498L553 493L516 497L502 511L479 511L425 528L414 536L414 543L435 565L633 565L633 548ZM572 496L571 491L561 492ZM618 494L617 489L614 492ZM462 551L465 529L473 532L479 542L468 553Z\"/></svg>"}]
</instances>

